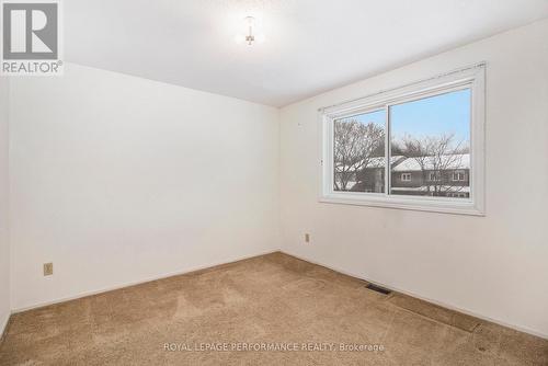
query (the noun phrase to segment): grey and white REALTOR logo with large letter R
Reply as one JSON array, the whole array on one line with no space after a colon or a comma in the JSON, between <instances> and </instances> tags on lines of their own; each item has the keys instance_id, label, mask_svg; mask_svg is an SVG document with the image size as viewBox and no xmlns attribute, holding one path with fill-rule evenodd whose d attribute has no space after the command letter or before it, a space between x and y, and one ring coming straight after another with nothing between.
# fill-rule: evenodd
<instances>
[{"instance_id":1,"label":"grey and white REALTOR logo with large letter R","mask_svg":"<svg viewBox=\"0 0 548 366\"><path fill-rule=\"evenodd\" d=\"M2 75L60 75L59 2L2 2Z\"/></svg>"}]
</instances>

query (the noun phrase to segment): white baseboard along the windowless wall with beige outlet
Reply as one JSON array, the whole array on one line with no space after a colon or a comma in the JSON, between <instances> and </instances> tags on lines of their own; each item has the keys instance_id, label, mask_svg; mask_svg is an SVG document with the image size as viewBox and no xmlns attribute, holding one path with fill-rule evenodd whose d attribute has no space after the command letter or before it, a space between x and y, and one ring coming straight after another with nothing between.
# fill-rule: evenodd
<instances>
[{"instance_id":1,"label":"white baseboard along the windowless wall with beige outlet","mask_svg":"<svg viewBox=\"0 0 548 366\"><path fill-rule=\"evenodd\" d=\"M82 298L82 297L87 297L87 296L98 295L98 294L102 294L102 293L109 293L109 291L112 291L112 290L115 290L115 289L119 289L119 288L124 288L124 287L129 287L129 286L146 284L147 282L151 282L151 281L157 281L157 279L162 279L162 278L179 276L179 275L183 275L183 274L189 274L189 273L192 273L192 272L207 270L207 268L215 267L215 266L218 266L218 265L230 264L230 263L235 263L235 262L239 262L239 261L244 261L244 260L249 260L249 259L252 259L252 258L255 258L255 256L272 254L272 253L276 253L276 252L279 252L279 249L271 250L271 251L266 251L266 252L259 252L256 254L246 255L246 256L241 256L241 258L237 258L237 259L230 259L230 260L227 260L227 261L208 263L206 265L198 265L198 266L190 267L190 268L178 271L178 272L164 273L164 274L161 274L161 275L158 275L158 276L153 276L153 277L142 278L142 279L138 279L138 281L134 281L134 282L128 282L128 283L124 283L124 284L118 284L118 285L114 285L114 286L109 286L109 287L103 287L103 288L93 289L93 290L89 290L89 291L83 291L83 293L79 293L77 295L65 296L65 297L60 297L60 298L57 298L57 299L54 299L54 300L48 300L48 301L33 304L31 306L18 307L18 308L12 309L12 313L18 313L18 312L22 312L22 311L32 310L32 309L43 308L45 306L49 306L49 305L54 305L54 304L59 304L59 302L65 302L65 301L70 301L70 300L76 300L76 299L79 299L79 298Z\"/></svg>"}]
</instances>

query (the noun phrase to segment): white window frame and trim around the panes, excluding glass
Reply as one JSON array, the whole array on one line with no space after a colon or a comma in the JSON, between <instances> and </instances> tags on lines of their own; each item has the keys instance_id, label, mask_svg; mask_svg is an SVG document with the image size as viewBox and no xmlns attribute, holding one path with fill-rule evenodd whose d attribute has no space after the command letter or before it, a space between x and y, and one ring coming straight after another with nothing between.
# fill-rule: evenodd
<instances>
[{"instance_id":1,"label":"white window frame and trim around the panes, excluding glass","mask_svg":"<svg viewBox=\"0 0 548 366\"><path fill-rule=\"evenodd\" d=\"M470 89L470 197L429 197L389 194L391 172L390 151L387 151L385 168L385 193L340 192L333 188L333 123L338 118L349 117L372 111L386 111L386 144L389 150L389 107L395 104L411 102L438 94ZM399 209L413 209L463 215L486 215L484 194L484 125L486 125L486 64L477 64L427 80L380 91L369 96L340 103L319 110L320 159L319 159L319 201L322 203L364 205Z\"/></svg>"}]
</instances>

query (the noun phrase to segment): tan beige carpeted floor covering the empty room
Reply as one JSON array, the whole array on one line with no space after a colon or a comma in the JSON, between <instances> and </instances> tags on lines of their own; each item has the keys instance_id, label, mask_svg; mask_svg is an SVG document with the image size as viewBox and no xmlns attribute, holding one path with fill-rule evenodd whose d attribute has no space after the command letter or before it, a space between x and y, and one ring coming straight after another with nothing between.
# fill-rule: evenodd
<instances>
[{"instance_id":1,"label":"tan beige carpeted floor covering the empty room","mask_svg":"<svg viewBox=\"0 0 548 366\"><path fill-rule=\"evenodd\" d=\"M0 365L548 365L546 340L365 285L269 254L14 314Z\"/></svg>"}]
</instances>

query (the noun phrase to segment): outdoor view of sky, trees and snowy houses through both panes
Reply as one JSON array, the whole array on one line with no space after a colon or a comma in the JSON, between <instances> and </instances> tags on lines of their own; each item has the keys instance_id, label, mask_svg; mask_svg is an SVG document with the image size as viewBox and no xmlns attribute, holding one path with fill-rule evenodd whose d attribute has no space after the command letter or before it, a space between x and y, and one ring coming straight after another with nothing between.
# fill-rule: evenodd
<instances>
[{"instance_id":1,"label":"outdoor view of sky, trees and snowy houses through both panes","mask_svg":"<svg viewBox=\"0 0 548 366\"><path fill-rule=\"evenodd\" d=\"M470 98L460 89L335 119L334 191L470 197Z\"/></svg>"}]
</instances>

